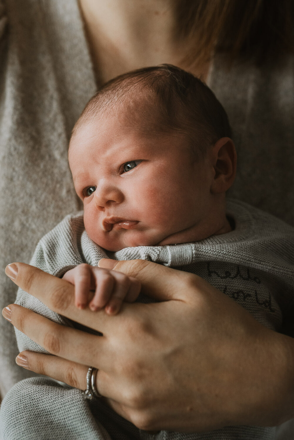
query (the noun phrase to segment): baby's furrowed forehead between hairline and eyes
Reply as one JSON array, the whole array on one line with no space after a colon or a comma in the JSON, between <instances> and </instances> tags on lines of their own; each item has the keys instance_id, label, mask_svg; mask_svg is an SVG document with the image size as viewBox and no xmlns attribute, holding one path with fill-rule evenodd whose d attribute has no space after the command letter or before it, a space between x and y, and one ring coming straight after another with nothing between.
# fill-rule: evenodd
<instances>
[{"instance_id":1,"label":"baby's furrowed forehead between hairline and eyes","mask_svg":"<svg viewBox=\"0 0 294 440\"><path fill-rule=\"evenodd\" d=\"M70 142L70 169L73 172L91 162L108 166L119 161L149 160L162 154L172 157L172 150L188 146L187 136L179 132L156 132L140 124L127 126L109 114L99 124L90 119L79 127Z\"/></svg>"}]
</instances>

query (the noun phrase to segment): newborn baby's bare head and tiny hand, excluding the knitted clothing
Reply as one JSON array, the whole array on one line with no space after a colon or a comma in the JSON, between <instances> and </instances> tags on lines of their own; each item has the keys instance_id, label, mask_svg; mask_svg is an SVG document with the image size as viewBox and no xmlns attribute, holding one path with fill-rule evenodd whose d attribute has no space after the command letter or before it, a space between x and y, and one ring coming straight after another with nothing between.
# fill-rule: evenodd
<instances>
[{"instance_id":1,"label":"newborn baby's bare head and tiny hand, excluding the knitted clothing","mask_svg":"<svg viewBox=\"0 0 294 440\"><path fill-rule=\"evenodd\" d=\"M189 73L162 66L108 83L88 103L70 140L88 236L118 251L230 232L225 192L236 165L230 136L223 107ZM85 265L64 278L76 286L77 307L88 303L91 285L90 308L106 306L110 314L140 291L135 279Z\"/></svg>"}]
</instances>

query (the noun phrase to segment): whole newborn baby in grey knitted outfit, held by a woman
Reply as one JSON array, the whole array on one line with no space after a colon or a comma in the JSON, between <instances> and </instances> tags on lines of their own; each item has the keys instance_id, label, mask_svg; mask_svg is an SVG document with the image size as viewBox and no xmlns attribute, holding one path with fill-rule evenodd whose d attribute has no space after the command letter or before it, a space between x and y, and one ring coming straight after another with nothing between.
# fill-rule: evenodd
<instances>
[{"instance_id":1,"label":"whole newborn baby in grey knitted outfit, held by a woman","mask_svg":"<svg viewBox=\"0 0 294 440\"><path fill-rule=\"evenodd\" d=\"M84 212L66 216L48 232L31 264L72 282L78 307L89 304L92 310L105 308L113 315L123 301L135 301L138 282L98 264L101 258L140 258L195 273L263 325L290 333L286 327L293 316L294 229L246 203L226 203L225 193L235 177L235 147L227 115L205 84L168 65L108 82L74 127L69 162ZM21 289L16 302L79 328ZM16 335L19 351L46 352L20 331ZM61 426L66 434L60 438L72 438L69 433L80 429L84 414L82 434L75 438L109 438L101 423L113 439L154 439L103 400L89 407L79 390L66 391L44 378L22 382L13 388L17 413L26 408L22 429L34 426L34 414L42 414L46 438L53 438ZM274 428L227 426L209 433L162 432L156 438L273 436Z\"/></svg>"}]
</instances>

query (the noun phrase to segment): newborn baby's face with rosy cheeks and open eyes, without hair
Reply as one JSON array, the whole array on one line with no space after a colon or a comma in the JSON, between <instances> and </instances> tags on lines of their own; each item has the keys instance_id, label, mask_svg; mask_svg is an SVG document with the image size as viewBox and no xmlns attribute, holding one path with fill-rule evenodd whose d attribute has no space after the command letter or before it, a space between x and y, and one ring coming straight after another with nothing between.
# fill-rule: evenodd
<instances>
[{"instance_id":1,"label":"newborn baby's face with rosy cheeks and open eyes, without hair","mask_svg":"<svg viewBox=\"0 0 294 440\"><path fill-rule=\"evenodd\" d=\"M103 116L77 130L69 161L85 229L104 249L205 238L214 169L183 135L146 135Z\"/></svg>"}]
</instances>

